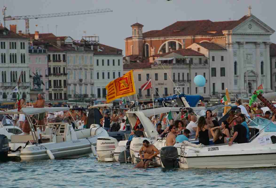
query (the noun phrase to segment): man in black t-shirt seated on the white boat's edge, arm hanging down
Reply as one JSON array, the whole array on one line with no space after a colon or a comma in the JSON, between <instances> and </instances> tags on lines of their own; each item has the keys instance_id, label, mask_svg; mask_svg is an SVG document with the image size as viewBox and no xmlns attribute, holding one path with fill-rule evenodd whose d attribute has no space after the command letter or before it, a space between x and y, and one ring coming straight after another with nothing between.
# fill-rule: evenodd
<instances>
[{"instance_id":1,"label":"man in black t-shirt seated on the white boat's edge, arm hanging down","mask_svg":"<svg viewBox=\"0 0 276 188\"><path fill-rule=\"evenodd\" d=\"M233 144L233 142L237 142L238 144L245 143L247 141L246 138L246 128L241 125L241 117L238 116L236 118L236 125L234 125L234 134L233 138L229 141L229 146Z\"/></svg>"}]
</instances>

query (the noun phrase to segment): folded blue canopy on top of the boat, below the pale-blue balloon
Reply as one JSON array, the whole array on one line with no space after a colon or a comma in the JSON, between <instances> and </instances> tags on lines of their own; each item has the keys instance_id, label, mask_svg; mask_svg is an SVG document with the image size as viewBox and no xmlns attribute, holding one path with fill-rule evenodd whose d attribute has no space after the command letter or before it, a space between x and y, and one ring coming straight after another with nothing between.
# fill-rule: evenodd
<instances>
[{"instance_id":1,"label":"folded blue canopy on top of the boat, below the pale-blue balloon","mask_svg":"<svg viewBox=\"0 0 276 188\"><path fill-rule=\"evenodd\" d=\"M181 97L184 97L191 107L195 107L200 100L204 99L200 95L185 95L184 93L181 93L179 95L176 94L176 95L164 97L164 98L155 98L154 102L174 100L174 99L181 98Z\"/></svg>"}]
</instances>

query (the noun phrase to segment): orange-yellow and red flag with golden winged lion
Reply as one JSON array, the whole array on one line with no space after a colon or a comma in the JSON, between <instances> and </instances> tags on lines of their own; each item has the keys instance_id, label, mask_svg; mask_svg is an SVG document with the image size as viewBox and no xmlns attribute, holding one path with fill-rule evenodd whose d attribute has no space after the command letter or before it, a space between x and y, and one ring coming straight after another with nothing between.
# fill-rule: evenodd
<instances>
[{"instance_id":1,"label":"orange-yellow and red flag with golden winged lion","mask_svg":"<svg viewBox=\"0 0 276 188\"><path fill-rule=\"evenodd\" d=\"M107 102L111 102L121 97L136 94L133 70L127 72L122 77L111 81L109 84L107 84L107 86L105 86L105 88L107 90Z\"/></svg>"}]
</instances>

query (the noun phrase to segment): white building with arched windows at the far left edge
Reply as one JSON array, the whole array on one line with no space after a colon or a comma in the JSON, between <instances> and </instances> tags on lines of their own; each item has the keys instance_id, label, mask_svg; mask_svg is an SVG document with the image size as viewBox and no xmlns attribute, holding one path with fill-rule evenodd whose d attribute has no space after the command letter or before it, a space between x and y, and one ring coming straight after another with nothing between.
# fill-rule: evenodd
<instances>
[{"instance_id":1,"label":"white building with arched windows at the far left edge","mask_svg":"<svg viewBox=\"0 0 276 188\"><path fill-rule=\"evenodd\" d=\"M17 94L11 91L17 86L20 98L30 100L29 39L0 26L0 103L3 108L14 107Z\"/></svg>"}]
</instances>

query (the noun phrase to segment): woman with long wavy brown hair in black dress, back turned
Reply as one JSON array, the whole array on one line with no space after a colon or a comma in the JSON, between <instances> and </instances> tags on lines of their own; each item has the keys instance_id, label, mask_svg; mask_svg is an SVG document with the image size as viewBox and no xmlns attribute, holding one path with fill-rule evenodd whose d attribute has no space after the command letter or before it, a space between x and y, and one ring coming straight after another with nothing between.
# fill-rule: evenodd
<instances>
[{"instance_id":1,"label":"woman with long wavy brown hair in black dress, back turned","mask_svg":"<svg viewBox=\"0 0 276 188\"><path fill-rule=\"evenodd\" d=\"M199 143L204 145L209 145L209 125L206 122L204 116L198 119L197 132L195 134L195 139L199 138Z\"/></svg>"}]
</instances>

